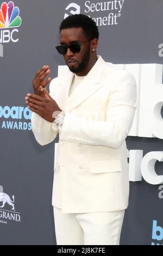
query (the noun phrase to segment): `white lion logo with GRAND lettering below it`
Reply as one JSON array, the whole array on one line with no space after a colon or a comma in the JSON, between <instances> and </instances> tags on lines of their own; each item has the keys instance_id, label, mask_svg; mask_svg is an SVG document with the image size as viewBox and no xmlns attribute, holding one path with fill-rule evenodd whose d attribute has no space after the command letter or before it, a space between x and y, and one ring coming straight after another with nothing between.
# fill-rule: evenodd
<instances>
[{"instance_id":1,"label":"white lion logo with GRAND lettering below it","mask_svg":"<svg viewBox=\"0 0 163 256\"><path fill-rule=\"evenodd\" d=\"M8 221L21 222L20 212L15 210L15 197L11 197L3 192L3 187L0 185L0 224L7 224Z\"/></svg>"}]
</instances>

